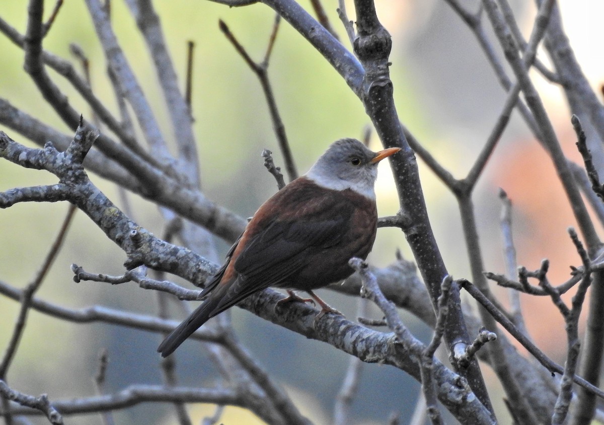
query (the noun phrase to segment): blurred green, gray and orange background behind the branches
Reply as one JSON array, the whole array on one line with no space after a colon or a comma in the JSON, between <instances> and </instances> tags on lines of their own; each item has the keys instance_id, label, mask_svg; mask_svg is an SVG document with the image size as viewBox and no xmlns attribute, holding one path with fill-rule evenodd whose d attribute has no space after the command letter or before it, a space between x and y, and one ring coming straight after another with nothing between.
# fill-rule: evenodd
<instances>
[{"instance_id":1,"label":"blurred green, gray and orange background behind the branches","mask_svg":"<svg viewBox=\"0 0 604 425\"><path fill-rule=\"evenodd\" d=\"M402 122L416 135L443 166L462 178L483 146L503 106L505 95L471 31L442 1L406 2L376 0L382 23L393 36L391 77ZM465 1L464 7L477 10L478 2ZM304 7L309 7L302 2ZM324 1L333 27L344 44L345 32L336 14L334 0ZM604 4L588 0L560 1L564 25L583 71L594 88L604 81L604 57L594 45L602 40L601 16ZM194 41L193 116L202 168L202 186L208 198L239 213L251 216L276 190L274 179L263 167L260 153L274 152L275 163L283 160L275 141L262 89L252 72L220 33L223 19L239 41L257 60L262 60L271 33L274 12L262 4L228 8L209 1L173 0L155 2L164 35L179 77L186 69L187 41ZM528 38L535 16L530 2L513 1L518 22ZM46 15L54 2L46 2ZM350 19L353 4L347 3ZM27 1L3 2L0 16L20 33L27 23ZM596 21L597 20L597 21ZM112 1L112 22L121 48L126 52L156 117L167 138L172 137L149 52L141 39L129 9L121 0ZM485 25L488 23L485 19ZM91 62L92 87L105 105L117 112L106 77L106 62L95 36L85 2L68 1L60 10L44 47L79 69L69 53L77 43ZM493 44L497 44L493 41ZM72 134L47 105L34 83L24 73L22 50L0 36L0 97L34 117ZM539 59L547 63L544 54ZM62 77L51 77L83 115L90 108ZM298 170L305 172L333 140L360 138L368 118L361 102L330 65L295 30L282 22L269 67L269 76L278 108L283 117ZM559 89L537 77L539 90L557 134L570 158L578 159L576 138L570 125L567 104ZM184 82L182 85L184 86ZM29 142L16 132L0 129L20 143ZM33 144L31 144L33 146ZM370 148L380 149L373 135ZM422 184L431 222L445 263L454 277L469 277L467 255L454 196L420 162ZM16 186L55 183L45 172L22 169L0 161L0 190ZM109 198L121 205L117 189L92 175ZM475 210L483 242L487 270L503 273L499 232L498 188L507 191L514 204L514 234L518 264L529 270L539 267L542 258L551 261L550 280L559 284L568 278L568 266L580 263L567 227L574 225L570 207L550 160L515 114L501 143L490 160L475 192ZM156 235L164 224L155 206L130 196L134 216ZM398 202L390 169L382 164L377 185L381 216L397 212ZM0 279L22 288L36 274L52 243L67 205L16 204L0 211ZM219 256L228 248L216 240ZM369 261L385 266L394 261L400 248L412 259L404 235L396 229L380 229ZM82 265L87 271L122 274L124 253L109 241L83 213L77 213L66 246L55 262L38 296L71 308L104 305L114 309L156 314L153 293L134 284L109 286L72 281L69 266ZM495 289L495 291L498 291ZM349 318L355 317L356 299L320 291L321 296ZM507 299L501 292L502 299ZM557 361L563 359L564 323L548 299L522 297L528 328L536 343ZM0 350L10 338L18 303L0 297ZM374 316L379 313L373 311ZM426 340L429 329L410 314L401 312L416 336ZM341 386L348 356L323 343L306 340L265 322L246 311L233 309L240 339L272 376L316 423L329 423L335 394ZM117 392L132 383L161 383L156 334L100 323L74 324L31 311L18 355L8 374L11 386L28 394L47 392L51 400L94 394L92 377L98 367L98 353L109 352L108 392ZM177 368L183 385L211 383L216 374L203 350L187 342L177 353ZM486 369L487 376L490 371ZM487 381L489 381L487 379ZM494 380L490 380L494 381ZM413 412L419 384L390 366L365 365L355 400L355 424L385 423L390 412L399 412L407 423ZM493 402L501 403L497 388ZM193 418L213 413L213 407L191 405ZM498 414L504 415L503 407ZM165 405L143 404L115 412L120 424L175 423ZM195 419L194 419L195 420ZM71 423L98 424L97 415L82 415ZM40 420L40 423L45 421ZM223 423L261 423L236 408L226 409Z\"/></svg>"}]
</instances>

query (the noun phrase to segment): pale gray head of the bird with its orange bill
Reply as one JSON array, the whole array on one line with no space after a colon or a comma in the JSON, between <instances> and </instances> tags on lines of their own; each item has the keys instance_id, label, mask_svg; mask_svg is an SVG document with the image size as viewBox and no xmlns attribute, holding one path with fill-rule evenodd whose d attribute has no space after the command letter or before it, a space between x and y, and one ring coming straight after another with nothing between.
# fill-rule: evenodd
<instances>
[{"instance_id":1,"label":"pale gray head of the bird with its orange bill","mask_svg":"<svg viewBox=\"0 0 604 425\"><path fill-rule=\"evenodd\" d=\"M327 189L352 189L375 199L377 163L398 151L389 148L373 152L356 139L343 138L332 143L305 176Z\"/></svg>"}]
</instances>

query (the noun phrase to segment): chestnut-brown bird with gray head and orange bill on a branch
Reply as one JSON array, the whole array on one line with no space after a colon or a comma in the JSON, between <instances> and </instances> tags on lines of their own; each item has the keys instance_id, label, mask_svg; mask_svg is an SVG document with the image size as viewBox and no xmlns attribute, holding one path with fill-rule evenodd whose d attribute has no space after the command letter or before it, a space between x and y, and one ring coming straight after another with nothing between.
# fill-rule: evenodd
<instances>
[{"instance_id":1,"label":"chestnut-brown bird with gray head and orange bill on a branch","mask_svg":"<svg viewBox=\"0 0 604 425\"><path fill-rule=\"evenodd\" d=\"M288 290L280 303L312 299L315 320L339 313L313 290L353 273L349 260L366 259L377 232L377 163L400 148L373 152L353 138L332 143L306 174L260 206L199 298L205 301L159 345L172 354L211 317L268 287ZM303 299L293 290L306 291Z\"/></svg>"}]
</instances>

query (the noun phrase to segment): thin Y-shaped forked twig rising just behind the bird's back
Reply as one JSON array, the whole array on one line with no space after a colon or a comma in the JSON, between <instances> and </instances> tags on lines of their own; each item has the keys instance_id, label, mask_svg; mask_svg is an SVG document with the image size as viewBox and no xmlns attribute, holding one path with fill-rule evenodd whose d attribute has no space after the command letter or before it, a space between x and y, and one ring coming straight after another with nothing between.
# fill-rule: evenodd
<instances>
[{"instance_id":1,"label":"thin Y-shaped forked twig rising just behind the bird's back","mask_svg":"<svg viewBox=\"0 0 604 425\"><path fill-rule=\"evenodd\" d=\"M285 126L283 124L283 120L281 119L281 114L277 108L277 102L275 101L275 96L272 91L271 82L268 79L268 64L270 55L272 52L272 46L274 45L275 38L277 37L277 31L279 29L280 23L280 15L275 16L275 23L272 27L271 36L269 37L268 47L266 48L266 54L262 62L256 63L249 56L248 52L245 48L237 41L234 34L231 32L229 27L225 24L224 21L220 20L218 22L220 31L225 34L226 39L231 42L237 53L243 57L245 63L247 63L248 67L252 70L252 72L258 77L260 81L260 85L262 86L262 90L265 94L266 103L268 104L269 112L271 114L272 126L275 131L275 135L277 136L277 141L279 143L279 147L281 149L281 154L283 155L283 160L285 162L285 169L288 172L289 181L294 180L298 177L298 171L296 170L296 166L294 163L294 158L292 157L292 152L289 147L288 137L285 132Z\"/></svg>"}]
</instances>

